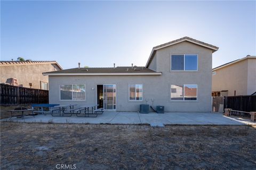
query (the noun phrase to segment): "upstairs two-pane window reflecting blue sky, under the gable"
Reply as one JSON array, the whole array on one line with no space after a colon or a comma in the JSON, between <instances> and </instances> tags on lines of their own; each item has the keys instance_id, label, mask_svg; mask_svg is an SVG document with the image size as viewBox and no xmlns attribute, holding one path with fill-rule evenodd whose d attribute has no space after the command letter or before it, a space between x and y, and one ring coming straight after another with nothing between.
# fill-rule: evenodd
<instances>
[{"instance_id":1,"label":"upstairs two-pane window reflecting blue sky, under the gable","mask_svg":"<svg viewBox=\"0 0 256 170\"><path fill-rule=\"evenodd\" d=\"M171 55L171 70L196 71L197 54Z\"/></svg>"}]
</instances>

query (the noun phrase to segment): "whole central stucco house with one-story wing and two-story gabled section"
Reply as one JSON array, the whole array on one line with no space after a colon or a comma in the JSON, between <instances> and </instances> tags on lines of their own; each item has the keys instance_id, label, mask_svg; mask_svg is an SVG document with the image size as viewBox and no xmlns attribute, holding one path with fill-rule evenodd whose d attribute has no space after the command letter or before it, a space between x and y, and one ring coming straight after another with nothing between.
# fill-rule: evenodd
<instances>
[{"instance_id":1,"label":"whole central stucco house with one-story wing and two-story gabled section","mask_svg":"<svg viewBox=\"0 0 256 170\"><path fill-rule=\"evenodd\" d=\"M218 47L183 37L152 49L146 66L74 68L49 75L49 101L139 111L211 112L212 53Z\"/></svg>"}]
</instances>

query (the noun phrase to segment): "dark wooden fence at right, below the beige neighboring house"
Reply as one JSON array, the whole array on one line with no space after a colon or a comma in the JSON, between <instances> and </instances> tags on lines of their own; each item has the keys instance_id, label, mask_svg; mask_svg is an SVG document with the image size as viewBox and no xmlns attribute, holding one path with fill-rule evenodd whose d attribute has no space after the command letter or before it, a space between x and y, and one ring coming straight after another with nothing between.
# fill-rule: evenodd
<instances>
[{"instance_id":1,"label":"dark wooden fence at right, below the beige neighboring house","mask_svg":"<svg viewBox=\"0 0 256 170\"><path fill-rule=\"evenodd\" d=\"M256 96L226 96L225 108L243 112L256 112Z\"/></svg>"}]
</instances>

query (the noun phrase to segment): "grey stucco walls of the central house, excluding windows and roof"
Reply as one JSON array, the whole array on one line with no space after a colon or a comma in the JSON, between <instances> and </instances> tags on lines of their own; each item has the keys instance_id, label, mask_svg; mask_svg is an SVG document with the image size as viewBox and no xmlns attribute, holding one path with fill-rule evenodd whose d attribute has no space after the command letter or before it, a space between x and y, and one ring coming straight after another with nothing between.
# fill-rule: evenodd
<instances>
[{"instance_id":1,"label":"grey stucco walls of the central house, excluding windows and roof","mask_svg":"<svg viewBox=\"0 0 256 170\"><path fill-rule=\"evenodd\" d=\"M162 75L49 75L49 101L95 104L97 85L116 84L116 111L139 111L139 105L147 103L163 105L169 112L211 112L212 52L188 41L158 49L148 67ZM171 71L172 54L197 54L198 71ZM85 101L60 100L61 84L85 84ZM143 84L142 101L129 100L129 84ZM197 84L197 100L171 100L171 84Z\"/></svg>"}]
</instances>

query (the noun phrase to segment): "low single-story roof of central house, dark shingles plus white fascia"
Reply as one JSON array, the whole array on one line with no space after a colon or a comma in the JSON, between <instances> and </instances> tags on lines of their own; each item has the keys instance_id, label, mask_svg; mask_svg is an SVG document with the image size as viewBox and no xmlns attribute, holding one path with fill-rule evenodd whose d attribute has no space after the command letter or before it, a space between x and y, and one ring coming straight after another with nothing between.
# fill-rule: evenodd
<instances>
[{"instance_id":1,"label":"low single-story roof of central house, dark shingles plus white fascia","mask_svg":"<svg viewBox=\"0 0 256 170\"><path fill-rule=\"evenodd\" d=\"M45 72L43 75L161 75L161 72L155 72L143 66L133 67L88 67L74 68L52 72Z\"/></svg>"}]
</instances>

